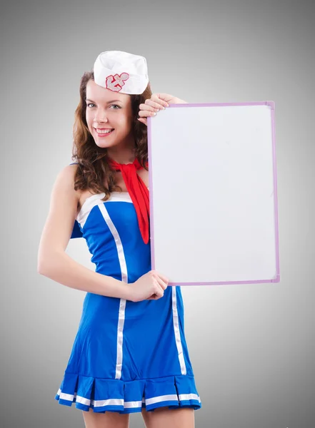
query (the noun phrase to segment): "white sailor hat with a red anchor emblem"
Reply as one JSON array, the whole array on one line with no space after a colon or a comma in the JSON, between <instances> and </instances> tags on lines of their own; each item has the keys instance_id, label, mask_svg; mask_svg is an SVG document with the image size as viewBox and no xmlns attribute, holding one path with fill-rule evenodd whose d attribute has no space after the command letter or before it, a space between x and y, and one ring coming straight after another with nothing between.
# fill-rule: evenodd
<instances>
[{"instance_id":1,"label":"white sailor hat with a red anchor emblem","mask_svg":"<svg viewBox=\"0 0 315 428\"><path fill-rule=\"evenodd\" d=\"M95 83L114 92L143 93L149 83L146 58L128 52L101 52L93 71Z\"/></svg>"}]
</instances>

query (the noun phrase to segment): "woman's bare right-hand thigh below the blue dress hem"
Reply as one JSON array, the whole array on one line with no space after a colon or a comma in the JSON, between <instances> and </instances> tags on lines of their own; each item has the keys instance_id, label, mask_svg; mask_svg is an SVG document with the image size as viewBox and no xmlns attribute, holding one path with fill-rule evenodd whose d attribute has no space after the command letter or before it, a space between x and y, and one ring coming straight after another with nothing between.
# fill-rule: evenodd
<instances>
[{"instance_id":1,"label":"woman's bare right-hand thigh below the blue dress hem","mask_svg":"<svg viewBox=\"0 0 315 428\"><path fill-rule=\"evenodd\" d=\"M182 407L179 409L169 409L169 407L159 407L154 412L141 410L146 428L195 428L194 409Z\"/></svg>"}]
</instances>

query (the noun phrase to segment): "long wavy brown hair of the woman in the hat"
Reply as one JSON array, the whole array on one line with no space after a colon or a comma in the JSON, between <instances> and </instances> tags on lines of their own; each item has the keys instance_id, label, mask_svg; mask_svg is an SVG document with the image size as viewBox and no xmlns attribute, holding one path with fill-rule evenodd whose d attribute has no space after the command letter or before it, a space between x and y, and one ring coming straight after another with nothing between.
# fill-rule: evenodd
<instances>
[{"instance_id":1,"label":"long wavy brown hair of the woman in the hat","mask_svg":"<svg viewBox=\"0 0 315 428\"><path fill-rule=\"evenodd\" d=\"M114 171L106 160L107 149L96 145L86 123L86 85L94 81L93 71L86 71L80 81L80 101L74 113L72 159L79 163L74 176L74 190L90 190L91 193L105 193L102 200L108 200L110 193L122 191L116 184ZM148 161L147 127L137 120L139 105L151 98L150 82L143 93L129 95L133 113L133 133L135 140L135 155L139 163L146 169Z\"/></svg>"}]
</instances>

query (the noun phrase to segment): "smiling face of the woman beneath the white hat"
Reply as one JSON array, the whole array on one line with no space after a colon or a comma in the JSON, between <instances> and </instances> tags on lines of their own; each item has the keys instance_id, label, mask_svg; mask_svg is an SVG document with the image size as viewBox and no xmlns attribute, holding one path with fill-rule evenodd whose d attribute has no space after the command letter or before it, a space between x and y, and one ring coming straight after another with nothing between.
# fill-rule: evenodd
<instances>
[{"instance_id":1,"label":"smiling face of the woman beneath the white hat","mask_svg":"<svg viewBox=\"0 0 315 428\"><path fill-rule=\"evenodd\" d=\"M86 123L99 147L130 143L132 130L131 97L126 93L111 91L89 80L86 85ZM109 134L96 128L114 129Z\"/></svg>"}]
</instances>

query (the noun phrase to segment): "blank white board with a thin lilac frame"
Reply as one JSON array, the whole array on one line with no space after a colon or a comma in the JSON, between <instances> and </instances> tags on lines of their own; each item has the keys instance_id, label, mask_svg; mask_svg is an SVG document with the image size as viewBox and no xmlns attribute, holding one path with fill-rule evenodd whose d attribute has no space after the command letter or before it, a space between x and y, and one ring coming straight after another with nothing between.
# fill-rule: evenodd
<instances>
[{"instance_id":1,"label":"blank white board with a thin lilac frame","mask_svg":"<svg viewBox=\"0 0 315 428\"><path fill-rule=\"evenodd\" d=\"M279 282L274 102L148 118L151 267L169 285Z\"/></svg>"}]
</instances>

